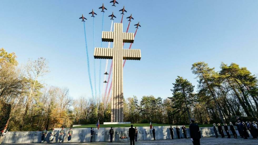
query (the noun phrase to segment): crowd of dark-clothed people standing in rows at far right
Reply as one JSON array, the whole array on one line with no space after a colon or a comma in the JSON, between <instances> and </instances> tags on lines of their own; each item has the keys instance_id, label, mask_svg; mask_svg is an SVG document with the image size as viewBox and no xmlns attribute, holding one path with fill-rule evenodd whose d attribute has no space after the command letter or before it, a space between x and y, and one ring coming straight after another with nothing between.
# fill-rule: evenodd
<instances>
[{"instance_id":1,"label":"crowd of dark-clothed people standing in rows at far right","mask_svg":"<svg viewBox=\"0 0 258 145\"><path fill-rule=\"evenodd\" d=\"M227 134L227 138L231 138L230 133L229 133L229 128L230 128L234 138L237 138L237 132L236 132L236 129L235 129L233 123L229 122L229 124L230 124L230 127L228 127L226 123L223 124L224 130ZM254 139L257 139L258 129L257 129L257 124L256 124L255 121L253 121L253 122L246 121L246 123L245 123L245 122L241 122L240 120L238 120L235 124L236 124L237 130L238 130L239 135L241 136L241 138L248 139L248 137L249 137L248 131L249 131L251 133L252 137ZM225 135L224 135L224 132L223 132L222 125L220 123L218 123L217 125L218 125L219 134L221 135L222 138L224 138ZM216 138L218 138L219 136L218 136L218 133L217 133L215 123L213 123L213 130L214 130L214 133L216 135Z\"/></svg>"}]
</instances>

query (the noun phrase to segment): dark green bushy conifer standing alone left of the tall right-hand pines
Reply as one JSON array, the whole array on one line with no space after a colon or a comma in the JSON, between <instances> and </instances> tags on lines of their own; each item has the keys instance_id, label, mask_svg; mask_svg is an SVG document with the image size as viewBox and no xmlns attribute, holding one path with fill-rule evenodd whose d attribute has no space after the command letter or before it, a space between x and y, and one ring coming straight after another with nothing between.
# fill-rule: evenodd
<instances>
[{"instance_id":1,"label":"dark green bushy conifer standing alone left of the tall right-hand pines","mask_svg":"<svg viewBox=\"0 0 258 145\"><path fill-rule=\"evenodd\" d=\"M173 108L181 108L182 106L185 106L183 109L186 109L189 123L191 123L189 107L194 101L194 86L187 79L180 76L177 76L176 82L173 83L173 85L173 89L170 89L173 92L173 96L169 97L172 102L175 102Z\"/></svg>"}]
</instances>

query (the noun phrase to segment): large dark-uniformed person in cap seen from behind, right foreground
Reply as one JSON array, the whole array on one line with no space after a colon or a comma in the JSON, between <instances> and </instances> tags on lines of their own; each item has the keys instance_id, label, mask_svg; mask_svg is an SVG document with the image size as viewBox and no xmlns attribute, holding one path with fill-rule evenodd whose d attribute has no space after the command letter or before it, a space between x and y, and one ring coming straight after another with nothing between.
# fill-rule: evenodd
<instances>
[{"instance_id":1,"label":"large dark-uniformed person in cap seen from behind, right foreground","mask_svg":"<svg viewBox=\"0 0 258 145\"><path fill-rule=\"evenodd\" d=\"M191 118L191 122L192 123L189 125L191 140L193 145L200 145L201 130L198 124L194 123L195 119Z\"/></svg>"}]
</instances>

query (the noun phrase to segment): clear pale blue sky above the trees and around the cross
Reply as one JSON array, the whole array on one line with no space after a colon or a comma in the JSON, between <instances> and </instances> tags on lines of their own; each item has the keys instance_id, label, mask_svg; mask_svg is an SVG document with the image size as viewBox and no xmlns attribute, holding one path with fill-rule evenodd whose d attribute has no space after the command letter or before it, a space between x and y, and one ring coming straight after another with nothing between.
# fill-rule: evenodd
<instances>
[{"instance_id":1,"label":"clear pale blue sky above the trees and around the cross","mask_svg":"<svg viewBox=\"0 0 258 145\"><path fill-rule=\"evenodd\" d=\"M84 14L88 19L86 33L93 78L93 21L88 13L93 8L98 14L95 47L100 47L102 13L98 7L104 3L108 10L104 14L103 31L110 30L111 21L107 16L112 11L117 17L115 22L121 21L118 10L123 6L127 10L125 17L132 13L132 24L140 21L142 26L132 45L132 49L141 49L142 59L127 61L124 67L126 98L150 94L170 97L177 76L197 86L196 76L190 69L198 61L205 61L216 71L221 62L234 62L253 74L258 73L258 1L118 0L116 7L109 1L2 0L0 47L15 52L21 65L28 58L48 59L51 72L43 78L44 83L68 87L74 98L90 97L83 24L78 18ZM127 25L128 21L123 19L124 32ZM132 25L129 32L135 32ZM107 45L103 42L103 47ZM124 46L128 47L129 44ZM99 61L95 60L97 90ZM104 59L101 68L104 73Z\"/></svg>"}]
</instances>

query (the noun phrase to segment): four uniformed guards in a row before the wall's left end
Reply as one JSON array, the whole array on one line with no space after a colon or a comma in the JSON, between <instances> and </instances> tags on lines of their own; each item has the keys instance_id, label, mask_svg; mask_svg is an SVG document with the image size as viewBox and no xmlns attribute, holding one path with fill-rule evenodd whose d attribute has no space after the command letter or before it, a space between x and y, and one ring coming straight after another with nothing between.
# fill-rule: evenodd
<instances>
[{"instance_id":1,"label":"four uniformed guards in a row before the wall's left end","mask_svg":"<svg viewBox=\"0 0 258 145\"><path fill-rule=\"evenodd\" d=\"M54 140L54 137L56 137L56 134L57 132L55 131L55 129L53 128L52 131L50 132L50 137L49 137L49 142L50 143L53 143L53 140ZM46 137L46 134L47 134L47 130L46 128L42 131L41 133L41 143L44 142L45 140L45 137ZM59 132L59 136L58 136L58 141L59 143L62 142L63 140L63 135L65 134L65 131L64 131L64 128L62 127L61 131ZM73 135L73 131L72 131L72 128L70 128L70 130L68 131L67 133L67 136L68 136L68 142L71 141L72 139L72 135Z\"/></svg>"}]
</instances>

